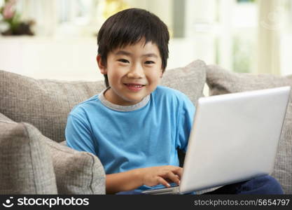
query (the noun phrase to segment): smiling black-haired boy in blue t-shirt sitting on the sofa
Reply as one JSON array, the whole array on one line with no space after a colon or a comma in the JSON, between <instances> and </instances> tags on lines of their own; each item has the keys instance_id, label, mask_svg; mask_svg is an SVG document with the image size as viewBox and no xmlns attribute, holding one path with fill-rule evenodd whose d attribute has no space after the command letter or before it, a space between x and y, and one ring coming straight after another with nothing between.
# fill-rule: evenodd
<instances>
[{"instance_id":1,"label":"smiling black-haired boy in blue t-shirt sitting on the sofa","mask_svg":"<svg viewBox=\"0 0 292 210\"><path fill-rule=\"evenodd\" d=\"M168 42L167 26L137 8L116 13L99 30L97 64L107 88L74 107L66 139L101 160L106 193L179 184L177 151L186 151L195 107L181 92L158 85ZM264 183L279 186L269 176Z\"/></svg>"}]
</instances>

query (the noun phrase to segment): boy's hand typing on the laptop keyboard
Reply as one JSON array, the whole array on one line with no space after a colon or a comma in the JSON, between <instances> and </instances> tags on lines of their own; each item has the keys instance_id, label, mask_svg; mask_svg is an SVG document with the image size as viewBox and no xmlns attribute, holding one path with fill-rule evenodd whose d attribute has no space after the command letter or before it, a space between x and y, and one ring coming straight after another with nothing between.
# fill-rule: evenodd
<instances>
[{"instance_id":1,"label":"boy's hand typing on the laptop keyboard","mask_svg":"<svg viewBox=\"0 0 292 210\"><path fill-rule=\"evenodd\" d=\"M179 185L182 172L183 169L181 167L175 167L172 165L141 169L144 185L156 186L162 184L167 188L170 187L168 181Z\"/></svg>"}]
</instances>

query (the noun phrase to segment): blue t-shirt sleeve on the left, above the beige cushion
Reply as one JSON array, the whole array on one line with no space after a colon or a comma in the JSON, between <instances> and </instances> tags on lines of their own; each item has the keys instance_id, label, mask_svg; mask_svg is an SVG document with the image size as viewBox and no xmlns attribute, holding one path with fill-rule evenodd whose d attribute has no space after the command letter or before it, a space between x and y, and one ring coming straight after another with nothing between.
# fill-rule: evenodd
<instances>
[{"instance_id":1,"label":"blue t-shirt sleeve on the left, above the beige cushion","mask_svg":"<svg viewBox=\"0 0 292 210\"><path fill-rule=\"evenodd\" d=\"M90 126L82 118L69 114L65 137L67 146L97 155Z\"/></svg>"}]
</instances>

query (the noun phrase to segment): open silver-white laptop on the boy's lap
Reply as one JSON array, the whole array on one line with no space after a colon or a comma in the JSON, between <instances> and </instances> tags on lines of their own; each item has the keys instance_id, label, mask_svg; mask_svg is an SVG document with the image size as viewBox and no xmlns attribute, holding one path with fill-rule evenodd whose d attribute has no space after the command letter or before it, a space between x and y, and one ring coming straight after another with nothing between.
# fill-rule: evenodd
<instances>
[{"instance_id":1,"label":"open silver-white laptop on the boy's lap","mask_svg":"<svg viewBox=\"0 0 292 210\"><path fill-rule=\"evenodd\" d=\"M202 97L179 186L144 194L184 194L271 174L291 87Z\"/></svg>"}]
</instances>

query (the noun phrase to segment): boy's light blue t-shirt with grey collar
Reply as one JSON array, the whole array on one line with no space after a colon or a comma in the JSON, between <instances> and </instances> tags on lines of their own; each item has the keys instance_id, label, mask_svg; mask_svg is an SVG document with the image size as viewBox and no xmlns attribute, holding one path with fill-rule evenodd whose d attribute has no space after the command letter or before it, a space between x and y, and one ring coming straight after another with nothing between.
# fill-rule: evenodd
<instances>
[{"instance_id":1,"label":"boy's light blue t-shirt with grey collar","mask_svg":"<svg viewBox=\"0 0 292 210\"><path fill-rule=\"evenodd\" d=\"M158 86L132 106L111 104L102 92L69 114L67 145L97 155L106 174L179 166L177 149L186 151L194 113L190 99L169 87Z\"/></svg>"}]
</instances>

